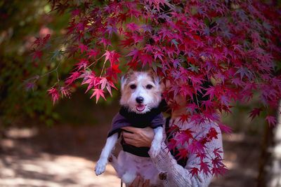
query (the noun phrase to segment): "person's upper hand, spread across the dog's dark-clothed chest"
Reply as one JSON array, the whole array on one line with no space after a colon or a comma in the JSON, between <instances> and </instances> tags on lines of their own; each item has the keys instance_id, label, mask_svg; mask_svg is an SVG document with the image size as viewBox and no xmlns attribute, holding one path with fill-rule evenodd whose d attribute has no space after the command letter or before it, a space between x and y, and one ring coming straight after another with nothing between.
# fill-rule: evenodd
<instances>
[{"instance_id":1,"label":"person's upper hand, spread across the dog's dark-clothed chest","mask_svg":"<svg viewBox=\"0 0 281 187\"><path fill-rule=\"evenodd\" d=\"M154 138L154 131L151 127L136 128L136 127L122 127L122 135L126 144L136 147L150 147ZM130 133L131 132L131 133Z\"/></svg>"}]
</instances>

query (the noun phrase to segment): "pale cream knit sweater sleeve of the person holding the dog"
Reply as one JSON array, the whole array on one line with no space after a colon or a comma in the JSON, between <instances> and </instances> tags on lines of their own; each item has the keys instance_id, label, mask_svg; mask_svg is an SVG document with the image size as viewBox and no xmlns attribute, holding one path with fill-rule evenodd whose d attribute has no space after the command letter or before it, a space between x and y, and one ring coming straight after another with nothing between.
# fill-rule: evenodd
<instances>
[{"instance_id":1,"label":"pale cream knit sweater sleeve of the person holding the dog","mask_svg":"<svg viewBox=\"0 0 281 187\"><path fill-rule=\"evenodd\" d=\"M218 132L218 139L213 139L211 142L207 143L207 150L222 148L221 130L216 125L211 125L211 127L213 126ZM205 130L202 130L200 134L207 134L208 129L209 127L205 128ZM212 152L210 152L210 156L215 158L214 153ZM221 157L223 157L222 154ZM159 172L166 173L166 179L163 181L164 186L209 186L209 183L213 178L211 174L207 176L202 172L199 172L197 176L192 176L188 169L192 167L200 167L200 158L197 158L195 154L189 155L188 162L185 168L183 168L181 165L177 164L173 155L171 155L168 148L166 148L166 144L164 144L164 142L162 142L162 148L159 154L155 158L151 159Z\"/></svg>"}]
</instances>

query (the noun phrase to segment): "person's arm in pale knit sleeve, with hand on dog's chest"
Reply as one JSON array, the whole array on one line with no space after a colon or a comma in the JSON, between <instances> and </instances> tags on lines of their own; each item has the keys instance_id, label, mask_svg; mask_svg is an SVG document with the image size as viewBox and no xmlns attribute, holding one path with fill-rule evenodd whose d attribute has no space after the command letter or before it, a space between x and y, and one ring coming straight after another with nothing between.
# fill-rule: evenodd
<instances>
[{"instance_id":1,"label":"person's arm in pale knit sleeve, with hand on dog's chest","mask_svg":"<svg viewBox=\"0 0 281 187\"><path fill-rule=\"evenodd\" d=\"M214 150L214 148L222 148L222 139L221 139L221 130L214 124L205 125L204 130L202 128L199 130L200 134L206 134L210 127L214 127L218 132L218 139L213 139L211 142L207 143L207 149ZM124 127L124 129L133 132L133 134L128 132L123 132L124 140L127 144L133 146L149 146L153 139L154 133L152 128L147 127L145 129L138 129L135 127ZM198 131L197 131L198 132ZM197 134L197 135L200 135ZM212 157L214 153L209 153ZM215 156L214 156L215 157ZM221 157L223 155L221 153ZM184 167L178 165L174 156L171 155L169 150L166 148L166 144L162 142L161 151L159 154L152 158L152 162L155 164L155 167L160 172L166 172L166 179L163 181L164 186L208 186L211 182L213 176L209 176L200 172L198 176L192 176L189 168L199 167L200 158L196 158L196 155L189 155L188 162Z\"/></svg>"}]
</instances>

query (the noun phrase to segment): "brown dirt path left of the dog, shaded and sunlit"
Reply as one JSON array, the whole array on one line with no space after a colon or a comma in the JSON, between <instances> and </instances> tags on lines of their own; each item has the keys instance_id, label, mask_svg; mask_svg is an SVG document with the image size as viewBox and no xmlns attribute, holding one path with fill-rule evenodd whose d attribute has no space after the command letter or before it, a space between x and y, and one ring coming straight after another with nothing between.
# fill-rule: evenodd
<instances>
[{"instance_id":1,"label":"brown dirt path left of the dog, shaded and sunlit","mask_svg":"<svg viewBox=\"0 0 281 187\"><path fill-rule=\"evenodd\" d=\"M105 141L100 131L107 130L12 128L1 141L0 186L118 186L111 165L102 176L93 172Z\"/></svg>"}]
</instances>

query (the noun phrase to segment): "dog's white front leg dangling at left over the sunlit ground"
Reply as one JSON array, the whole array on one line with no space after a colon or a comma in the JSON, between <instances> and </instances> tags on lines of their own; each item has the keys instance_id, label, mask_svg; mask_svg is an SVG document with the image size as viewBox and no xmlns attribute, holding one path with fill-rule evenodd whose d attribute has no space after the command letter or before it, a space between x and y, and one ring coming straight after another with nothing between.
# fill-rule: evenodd
<instances>
[{"instance_id":1,"label":"dog's white front leg dangling at left over the sunlit ground","mask_svg":"<svg viewBox=\"0 0 281 187\"><path fill-rule=\"evenodd\" d=\"M95 167L96 175L100 175L103 172L105 172L105 166L107 165L108 158L117 142L117 139L118 139L118 133L112 134L111 137L107 138L105 147L103 148L103 151L100 154L100 159L96 163L96 167Z\"/></svg>"}]
</instances>

